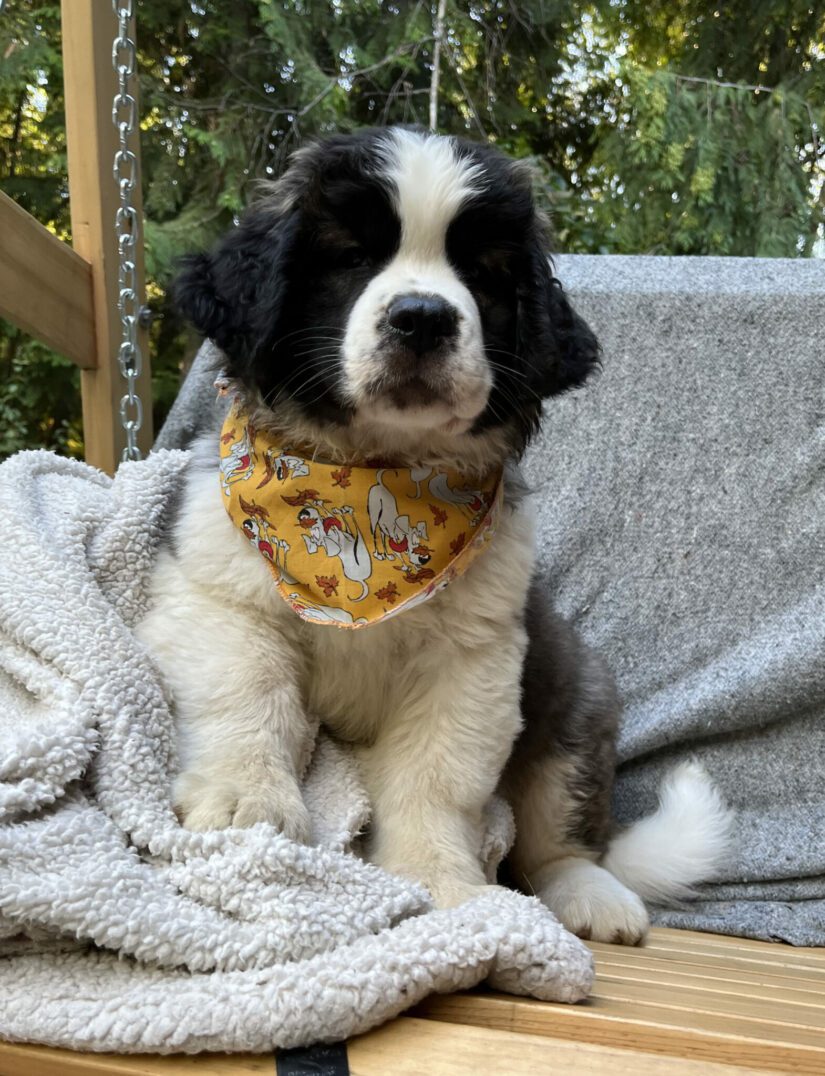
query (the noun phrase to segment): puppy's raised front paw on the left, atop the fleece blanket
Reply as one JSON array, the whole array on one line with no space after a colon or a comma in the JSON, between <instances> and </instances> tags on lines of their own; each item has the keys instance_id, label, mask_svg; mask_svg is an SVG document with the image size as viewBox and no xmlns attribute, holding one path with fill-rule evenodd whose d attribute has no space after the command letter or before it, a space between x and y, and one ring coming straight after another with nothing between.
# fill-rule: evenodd
<instances>
[{"instance_id":1,"label":"puppy's raised front paw on the left, atop the fleece blanket","mask_svg":"<svg viewBox=\"0 0 825 1076\"><path fill-rule=\"evenodd\" d=\"M175 782L174 808L181 823L198 833L268 822L290 840L310 838L309 812L298 785L288 777L272 787L226 776L211 779L189 770Z\"/></svg>"}]
</instances>

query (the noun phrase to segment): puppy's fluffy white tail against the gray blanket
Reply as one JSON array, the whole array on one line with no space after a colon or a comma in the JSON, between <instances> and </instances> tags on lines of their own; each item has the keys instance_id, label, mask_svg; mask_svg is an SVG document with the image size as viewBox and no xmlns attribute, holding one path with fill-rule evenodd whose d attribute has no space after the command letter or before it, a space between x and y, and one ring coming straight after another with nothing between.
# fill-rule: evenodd
<instances>
[{"instance_id":1,"label":"puppy's fluffy white tail against the gray blanket","mask_svg":"<svg viewBox=\"0 0 825 1076\"><path fill-rule=\"evenodd\" d=\"M680 901L713 877L732 822L705 768L685 762L663 781L658 809L611 841L601 865L643 901Z\"/></svg>"}]
</instances>

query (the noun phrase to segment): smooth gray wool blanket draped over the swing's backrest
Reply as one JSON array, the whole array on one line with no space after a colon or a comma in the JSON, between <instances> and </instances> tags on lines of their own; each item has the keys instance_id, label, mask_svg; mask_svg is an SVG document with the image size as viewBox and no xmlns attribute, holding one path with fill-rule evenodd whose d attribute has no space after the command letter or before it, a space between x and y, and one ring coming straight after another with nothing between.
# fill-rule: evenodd
<instances>
[{"instance_id":1,"label":"smooth gray wool blanket draped over the swing's backrest","mask_svg":"<svg viewBox=\"0 0 825 1076\"><path fill-rule=\"evenodd\" d=\"M563 257L603 374L527 472L552 600L625 704L616 812L698 756L738 810L722 880L659 923L825 945L825 266ZM204 352L160 443L213 421Z\"/></svg>"}]
</instances>

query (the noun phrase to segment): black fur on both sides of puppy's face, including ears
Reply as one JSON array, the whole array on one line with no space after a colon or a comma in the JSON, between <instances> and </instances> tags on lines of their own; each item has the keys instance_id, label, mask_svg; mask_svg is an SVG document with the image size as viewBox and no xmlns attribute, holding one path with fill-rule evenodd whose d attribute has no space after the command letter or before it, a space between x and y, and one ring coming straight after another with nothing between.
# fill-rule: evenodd
<instances>
[{"instance_id":1,"label":"black fur on both sides of puppy's face, including ears","mask_svg":"<svg viewBox=\"0 0 825 1076\"><path fill-rule=\"evenodd\" d=\"M340 344L370 280L398 249L393 192L379 174L386 129L336 136L303 150L278 185L209 254L184 261L181 311L228 359L228 373L265 401L297 401L345 424ZM521 452L541 400L581 384L598 344L546 257L524 170L488 145L456 140L483 168L483 192L450 225L447 257L472 292L494 388L474 433L513 431Z\"/></svg>"}]
</instances>

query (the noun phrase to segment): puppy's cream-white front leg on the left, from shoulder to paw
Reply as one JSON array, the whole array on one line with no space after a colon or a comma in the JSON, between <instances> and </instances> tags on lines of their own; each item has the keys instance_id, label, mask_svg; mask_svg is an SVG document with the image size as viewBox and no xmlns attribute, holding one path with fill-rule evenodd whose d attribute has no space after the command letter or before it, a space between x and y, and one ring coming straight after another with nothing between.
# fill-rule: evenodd
<instances>
[{"instance_id":1,"label":"puppy's cream-white front leg on the left, from shoulder to paw","mask_svg":"<svg viewBox=\"0 0 825 1076\"><path fill-rule=\"evenodd\" d=\"M274 596L271 576L240 530L227 534L216 473L208 479L190 482L177 527L183 556L158 557L155 600L138 626L174 699L183 766L175 805L191 830L267 821L307 839L297 778L313 728L301 705L300 653L276 621L256 614L250 596ZM225 520L201 511L208 485Z\"/></svg>"}]
</instances>

